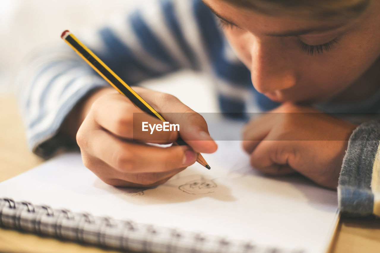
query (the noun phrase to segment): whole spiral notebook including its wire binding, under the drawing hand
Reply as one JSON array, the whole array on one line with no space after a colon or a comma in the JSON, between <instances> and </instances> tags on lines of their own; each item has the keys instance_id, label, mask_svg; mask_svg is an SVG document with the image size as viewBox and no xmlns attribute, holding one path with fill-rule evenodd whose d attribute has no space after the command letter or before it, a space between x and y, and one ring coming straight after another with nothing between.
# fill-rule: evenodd
<instances>
[{"instance_id":1,"label":"whole spiral notebook including its wire binding, under the drawing hand","mask_svg":"<svg viewBox=\"0 0 380 253\"><path fill-rule=\"evenodd\" d=\"M106 185L78 153L0 183L0 226L143 252L327 250L336 191L253 170L237 141L155 188Z\"/></svg>"}]
</instances>

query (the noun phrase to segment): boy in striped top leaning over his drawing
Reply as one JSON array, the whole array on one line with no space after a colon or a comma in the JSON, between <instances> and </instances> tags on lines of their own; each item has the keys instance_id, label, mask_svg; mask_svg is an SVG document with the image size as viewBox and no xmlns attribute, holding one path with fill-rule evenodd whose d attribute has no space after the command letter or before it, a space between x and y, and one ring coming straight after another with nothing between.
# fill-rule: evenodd
<instances>
[{"instance_id":1,"label":"boy in striped top leaning over his drawing","mask_svg":"<svg viewBox=\"0 0 380 253\"><path fill-rule=\"evenodd\" d=\"M244 128L255 169L299 172L338 187L340 210L380 215L379 122L315 113L379 110L379 11L380 2L370 0L161 0L79 39L128 84L180 68L208 71L222 111L234 115L249 111L253 92L263 111L279 112ZM140 87L136 92L166 120L180 124L189 147L132 141L142 139L133 136L139 110L69 48L41 54L24 73L21 103L33 151L47 157L76 140L84 164L108 184L162 184L193 164L196 152L217 149L200 115L167 114L193 111ZM179 134L156 133L160 143Z\"/></svg>"}]
</instances>

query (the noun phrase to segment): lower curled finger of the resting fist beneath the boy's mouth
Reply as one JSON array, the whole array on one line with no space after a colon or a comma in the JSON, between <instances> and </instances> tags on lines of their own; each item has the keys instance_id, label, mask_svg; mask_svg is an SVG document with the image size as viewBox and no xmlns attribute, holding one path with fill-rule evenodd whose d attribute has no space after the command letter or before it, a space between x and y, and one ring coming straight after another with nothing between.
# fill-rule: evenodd
<instances>
[{"instance_id":1,"label":"lower curled finger of the resting fist beneath the boy's mouth","mask_svg":"<svg viewBox=\"0 0 380 253\"><path fill-rule=\"evenodd\" d=\"M294 153L281 141L261 141L250 155L253 168L268 174L283 175L295 172L289 164Z\"/></svg>"}]
</instances>

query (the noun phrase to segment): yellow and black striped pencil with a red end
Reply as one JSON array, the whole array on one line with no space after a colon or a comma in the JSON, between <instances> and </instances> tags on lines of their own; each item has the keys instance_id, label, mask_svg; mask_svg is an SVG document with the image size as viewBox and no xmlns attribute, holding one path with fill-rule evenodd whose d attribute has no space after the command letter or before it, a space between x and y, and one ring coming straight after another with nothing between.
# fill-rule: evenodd
<instances>
[{"instance_id":1,"label":"yellow and black striped pencil with a red end","mask_svg":"<svg viewBox=\"0 0 380 253\"><path fill-rule=\"evenodd\" d=\"M141 98L128 84L126 84L117 74L114 73L104 62L102 62L90 49L88 49L81 41L78 40L69 30L65 30L61 38L74 49L95 71L100 74L109 84L112 85L120 94L125 95L133 104L142 111L162 120L166 121L152 106ZM177 145L187 145L182 138L178 138L175 142ZM211 167L199 153L196 160L199 164L207 169Z\"/></svg>"}]
</instances>

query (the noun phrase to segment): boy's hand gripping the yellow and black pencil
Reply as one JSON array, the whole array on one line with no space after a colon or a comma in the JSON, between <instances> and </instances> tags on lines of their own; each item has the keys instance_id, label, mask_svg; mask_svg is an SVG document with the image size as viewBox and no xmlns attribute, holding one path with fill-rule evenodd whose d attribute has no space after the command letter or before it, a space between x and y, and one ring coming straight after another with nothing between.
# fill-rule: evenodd
<instances>
[{"instance_id":1,"label":"boy's hand gripping the yellow and black pencil","mask_svg":"<svg viewBox=\"0 0 380 253\"><path fill-rule=\"evenodd\" d=\"M93 59L89 58L85 58L87 63L96 66ZM100 74L109 82L110 79L114 80L105 73ZM198 155L200 152L215 152L217 145L209 136L207 124L201 115L169 94L141 87L128 88L138 94L133 95L141 98L139 101L146 103L146 107L152 105L152 113L141 108L138 101L127 98L125 93L129 89L122 92L116 89L126 95L123 96L115 89L105 87L89 95L79 105L77 112L69 116L75 120L68 122L81 123L76 138L87 168L111 185L147 187L165 183L196 160L204 166L207 165ZM139 120L142 121L162 123L162 119L154 112L160 112L158 115L165 117L168 122L178 123L181 126L180 131L155 131L152 135L149 132L134 131L134 114L139 115ZM186 145L157 147L144 143L147 138L155 139L156 141L149 142L158 144L177 142Z\"/></svg>"}]
</instances>

